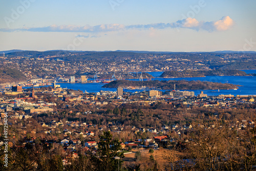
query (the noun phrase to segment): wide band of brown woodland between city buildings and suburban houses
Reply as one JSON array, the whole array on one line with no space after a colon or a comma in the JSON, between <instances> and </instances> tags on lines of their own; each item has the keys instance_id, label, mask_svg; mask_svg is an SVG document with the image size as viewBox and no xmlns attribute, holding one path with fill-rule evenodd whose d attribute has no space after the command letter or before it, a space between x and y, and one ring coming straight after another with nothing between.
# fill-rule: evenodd
<instances>
[{"instance_id":1,"label":"wide band of brown woodland between city buildings and suburban houses","mask_svg":"<svg viewBox=\"0 0 256 171\"><path fill-rule=\"evenodd\" d=\"M214 115L222 115L223 120L237 121L250 120L255 114L255 104L233 105L230 109L222 108L200 108L198 106L187 106L182 101L168 103L132 103L123 104L119 108L108 104L101 109L92 108L91 105L79 105L72 107L71 103L58 103L56 114L34 114L39 122L50 123L52 120L66 119L68 121L83 121L97 125L108 126L108 122L118 125L133 125L136 127L154 127L160 130L163 125L184 125L194 120L211 120ZM69 107L67 106L69 104ZM72 111L72 113L70 112ZM86 111L92 113L84 114ZM80 114L77 115L76 113ZM139 137L138 137L139 138Z\"/></svg>"}]
</instances>

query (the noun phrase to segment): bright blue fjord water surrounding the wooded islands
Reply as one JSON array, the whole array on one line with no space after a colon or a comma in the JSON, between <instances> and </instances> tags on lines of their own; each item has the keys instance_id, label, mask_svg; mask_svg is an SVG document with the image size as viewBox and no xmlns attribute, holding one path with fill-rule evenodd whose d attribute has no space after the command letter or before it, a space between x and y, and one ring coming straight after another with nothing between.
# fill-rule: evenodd
<instances>
[{"instance_id":1,"label":"bright blue fjord water surrounding the wooded islands","mask_svg":"<svg viewBox=\"0 0 256 171\"><path fill-rule=\"evenodd\" d=\"M256 70L244 70L246 73L256 73ZM148 72L154 77L159 77L162 72ZM137 80L139 79L131 79ZM206 76L206 77L190 77L190 78L153 78L152 80L200 80L200 81L211 81L211 82L221 82L221 83L231 83L237 84L241 87L238 87L238 90L188 90L194 91L195 95L200 94L203 91L208 96L218 96L220 94L232 94L232 95L256 95L256 77L253 76ZM104 84L102 83L58 83L61 88L68 88L73 90L87 91L89 93L99 92L99 91L116 91L115 88L102 88ZM176 90L179 90L179 87L176 87ZM136 92L143 90L126 90L125 92ZM166 90L161 90L166 91ZM183 90L182 90L183 91Z\"/></svg>"}]
</instances>

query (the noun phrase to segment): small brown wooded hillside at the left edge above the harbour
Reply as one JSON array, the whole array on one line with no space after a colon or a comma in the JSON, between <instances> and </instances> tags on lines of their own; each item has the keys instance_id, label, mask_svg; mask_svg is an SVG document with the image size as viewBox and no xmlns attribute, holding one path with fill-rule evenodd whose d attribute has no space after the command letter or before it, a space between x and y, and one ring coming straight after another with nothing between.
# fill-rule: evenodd
<instances>
[{"instance_id":1,"label":"small brown wooded hillside at the left edge above the harbour","mask_svg":"<svg viewBox=\"0 0 256 171\"><path fill-rule=\"evenodd\" d=\"M0 83L24 81L27 77L15 69L0 69Z\"/></svg>"}]
</instances>

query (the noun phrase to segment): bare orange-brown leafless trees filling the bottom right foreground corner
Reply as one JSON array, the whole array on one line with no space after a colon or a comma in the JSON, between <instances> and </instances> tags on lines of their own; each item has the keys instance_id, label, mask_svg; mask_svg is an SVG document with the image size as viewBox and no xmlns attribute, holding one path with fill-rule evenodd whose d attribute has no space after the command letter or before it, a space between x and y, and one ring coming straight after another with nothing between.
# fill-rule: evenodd
<instances>
[{"instance_id":1,"label":"bare orange-brown leafless trees filling the bottom right foreground corner","mask_svg":"<svg viewBox=\"0 0 256 171\"><path fill-rule=\"evenodd\" d=\"M238 131L221 120L192 125L185 141L163 154L165 170L255 170L255 127Z\"/></svg>"}]
</instances>

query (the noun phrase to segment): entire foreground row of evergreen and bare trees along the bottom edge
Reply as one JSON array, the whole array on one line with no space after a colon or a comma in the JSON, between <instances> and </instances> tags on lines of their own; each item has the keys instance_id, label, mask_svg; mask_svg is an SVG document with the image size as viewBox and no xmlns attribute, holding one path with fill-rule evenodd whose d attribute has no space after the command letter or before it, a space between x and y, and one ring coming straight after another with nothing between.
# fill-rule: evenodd
<instances>
[{"instance_id":1,"label":"entire foreground row of evergreen and bare trees along the bottom edge","mask_svg":"<svg viewBox=\"0 0 256 171\"><path fill-rule=\"evenodd\" d=\"M58 143L35 141L9 145L8 167L0 160L1 170L254 170L256 165L256 129L243 127L238 130L221 118L211 121L194 121L192 129L180 136L169 132L173 141L160 143L160 149L150 153L160 157L142 156L138 150L136 161L123 161L121 141L111 132L99 135L98 149L76 153ZM119 137L120 138L120 137ZM164 145L166 144L166 145ZM83 145L83 142L82 142ZM166 146L168 148L166 148ZM165 148L163 148L165 147ZM4 158L4 148L0 157ZM114 157L120 157L115 160Z\"/></svg>"}]
</instances>

